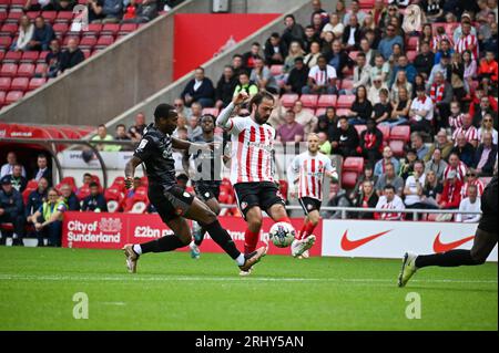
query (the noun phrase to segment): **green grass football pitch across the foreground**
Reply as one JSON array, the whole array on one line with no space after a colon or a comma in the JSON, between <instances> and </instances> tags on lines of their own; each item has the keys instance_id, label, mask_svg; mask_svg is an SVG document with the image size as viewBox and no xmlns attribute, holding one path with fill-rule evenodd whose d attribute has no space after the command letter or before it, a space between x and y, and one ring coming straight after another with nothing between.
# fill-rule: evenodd
<instances>
[{"instance_id":1,"label":"green grass football pitch across the foreground","mask_svg":"<svg viewBox=\"0 0 499 353\"><path fill-rule=\"evenodd\" d=\"M0 330L498 330L498 267L429 268L396 287L398 260L267 256L240 278L225 255L0 247ZM89 319L73 318L73 294ZM407 294L420 297L409 320ZM409 295L410 297L410 295Z\"/></svg>"}]
</instances>

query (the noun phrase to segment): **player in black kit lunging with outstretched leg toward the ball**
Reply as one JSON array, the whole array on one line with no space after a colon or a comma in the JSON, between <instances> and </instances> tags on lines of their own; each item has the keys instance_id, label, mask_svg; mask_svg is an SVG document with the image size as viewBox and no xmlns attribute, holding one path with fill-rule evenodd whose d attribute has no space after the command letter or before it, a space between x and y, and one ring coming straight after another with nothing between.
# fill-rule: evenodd
<instances>
[{"instance_id":1,"label":"player in black kit lunging with outstretched leg toward the ball","mask_svg":"<svg viewBox=\"0 0 499 353\"><path fill-rule=\"evenodd\" d=\"M131 188L135 168L144 163L149 179L147 196L154 205L161 219L173 230L173 236L166 236L141 245L123 247L126 267L130 272L136 272L140 256L147 252L172 251L191 242L191 229L186 221L197 221L210 237L234 260L242 271L249 270L266 255L266 248L244 255L237 250L228 232L222 228L215 212L195 196L182 190L176 185L172 148L196 150L211 148L172 137L177 126L179 114L169 104L160 104L154 111L154 123L150 124L140 142L133 157L125 166L125 185Z\"/></svg>"}]
</instances>

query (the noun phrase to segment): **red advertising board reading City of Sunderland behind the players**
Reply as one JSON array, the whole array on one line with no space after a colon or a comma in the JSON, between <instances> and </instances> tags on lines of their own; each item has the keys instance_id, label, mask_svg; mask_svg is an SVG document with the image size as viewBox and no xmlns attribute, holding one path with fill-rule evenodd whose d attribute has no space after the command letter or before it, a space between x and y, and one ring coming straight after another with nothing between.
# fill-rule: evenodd
<instances>
[{"instance_id":1,"label":"red advertising board reading City of Sunderland behind the players","mask_svg":"<svg viewBox=\"0 0 499 353\"><path fill-rule=\"evenodd\" d=\"M237 248L244 248L244 231L246 222L237 217L220 217L222 226L234 239ZM301 229L302 219L292 219L295 229ZM264 219L259 245L268 239L268 230L273 221ZM310 256L320 256L322 249L322 224L317 225L317 242L310 249ZM172 235L172 231L162 222L157 215L134 214L94 214L94 212L65 212L62 228L62 246L68 248L93 248L93 249L120 249L125 243L141 243ZM201 247L205 252L222 252L223 250L210 238ZM180 249L183 251L189 248ZM268 253L289 255L289 248L276 248L272 242Z\"/></svg>"}]
</instances>

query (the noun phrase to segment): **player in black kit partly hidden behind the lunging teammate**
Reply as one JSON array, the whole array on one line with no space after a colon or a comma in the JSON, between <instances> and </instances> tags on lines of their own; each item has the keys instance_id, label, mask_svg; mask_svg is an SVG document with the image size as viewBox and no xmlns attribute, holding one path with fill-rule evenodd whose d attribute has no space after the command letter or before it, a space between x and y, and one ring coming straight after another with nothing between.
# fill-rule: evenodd
<instances>
[{"instance_id":1,"label":"player in black kit partly hidden behind the lunging teammate","mask_svg":"<svg viewBox=\"0 0 499 353\"><path fill-rule=\"evenodd\" d=\"M198 150L192 155L194 162L194 175L191 179L194 180L194 189L197 197L203 200L207 207L215 214L220 215L221 207L218 204L220 186L221 186L221 153L223 137L216 136L215 138L215 121L216 117L212 114L204 114L201 116L201 128L203 134L195 137L193 143L198 144L214 144L215 153L213 149ZM216 144L215 144L216 142ZM186 156L189 158L189 156ZM198 259L201 251L200 246L203 242L206 230L197 222L193 222L193 237L194 240L189 245L191 248L191 257Z\"/></svg>"}]
</instances>

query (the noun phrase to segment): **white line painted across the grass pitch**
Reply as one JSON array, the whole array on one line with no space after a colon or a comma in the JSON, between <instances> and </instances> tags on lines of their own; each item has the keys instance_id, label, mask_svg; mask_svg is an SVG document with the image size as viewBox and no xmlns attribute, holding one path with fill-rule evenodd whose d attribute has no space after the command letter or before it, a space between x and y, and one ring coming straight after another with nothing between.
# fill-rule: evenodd
<instances>
[{"instance_id":1,"label":"white line painted across the grass pitch","mask_svg":"<svg viewBox=\"0 0 499 353\"><path fill-rule=\"evenodd\" d=\"M141 277L140 274L123 276L35 276L35 274L8 274L0 273L0 281L27 280L27 281L140 281L140 282L166 282L166 281L212 281L212 282L335 282L335 283L395 283L394 279L373 278L274 278L274 277L189 277L189 276L165 276L165 277ZM486 283L497 284L497 280L450 280L450 279L419 279L411 280L419 283Z\"/></svg>"}]
</instances>

